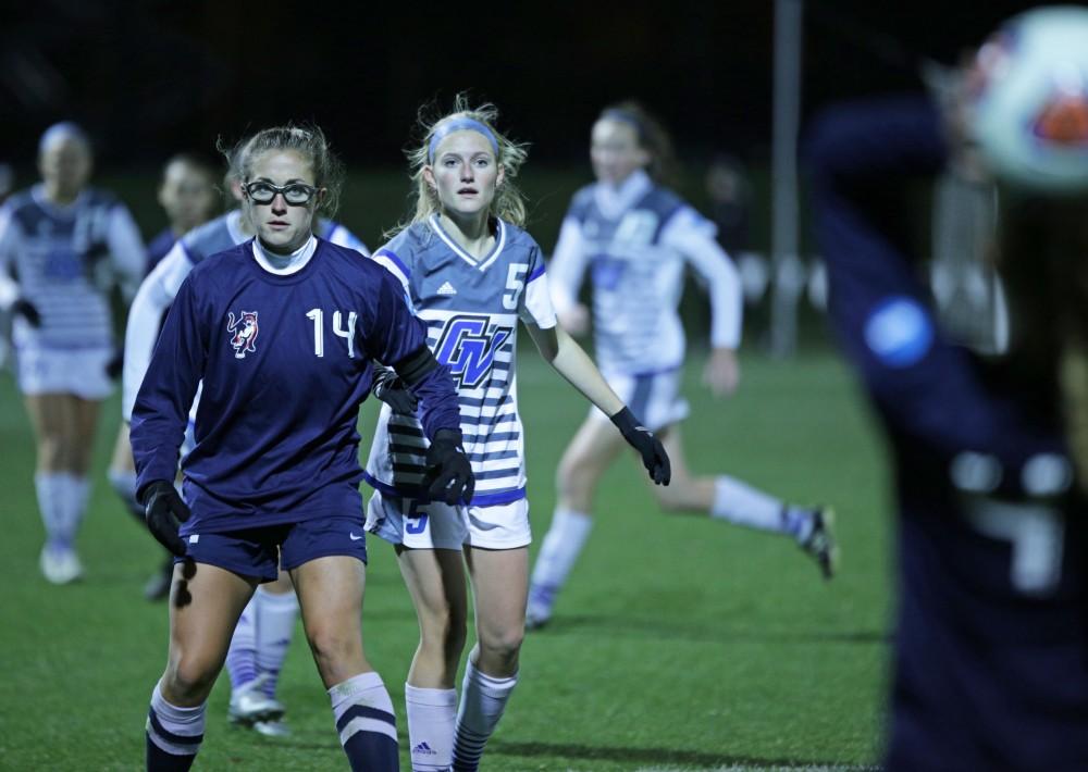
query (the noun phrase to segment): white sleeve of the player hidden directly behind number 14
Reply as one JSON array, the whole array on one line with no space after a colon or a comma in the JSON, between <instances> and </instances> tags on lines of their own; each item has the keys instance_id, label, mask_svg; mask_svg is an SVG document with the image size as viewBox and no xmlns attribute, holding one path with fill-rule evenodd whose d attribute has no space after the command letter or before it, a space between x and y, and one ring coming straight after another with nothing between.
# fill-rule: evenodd
<instances>
[{"instance_id":1,"label":"white sleeve of the player hidden directly behind number 14","mask_svg":"<svg viewBox=\"0 0 1088 772\"><path fill-rule=\"evenodd\" d=\"M125 327L125 366L121 377L121 415L125 421L132 420L136 393L151 363L154 344L159 340L162 314L174 301L178 287L191 270L193 263L185 257L178 241L144 279L133 298Z\"/></svg>"}]
</instances>

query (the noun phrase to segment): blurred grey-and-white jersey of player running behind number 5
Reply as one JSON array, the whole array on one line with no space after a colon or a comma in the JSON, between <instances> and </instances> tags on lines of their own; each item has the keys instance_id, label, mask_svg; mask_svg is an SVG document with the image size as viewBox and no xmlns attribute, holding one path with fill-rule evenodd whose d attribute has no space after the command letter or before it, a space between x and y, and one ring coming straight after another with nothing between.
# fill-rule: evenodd
<instances>
[{"instance_id":1,"label":"blurred grey-and-white jersey of player running behind number 5","mask_svg":"<svg viewBox=\"0 0 1088 772\"><path fill-rule=\"evenodd\" d=\"M639 375L683 363L678 306L685 265L708 287L712 346L737 348L741 285L715 233L712 222L642 171L619 188L597 183L574 195L548 267L553 301L560 314L577 302L590 269L594 343L604 373Z\"/></svg>"}]
</instances>

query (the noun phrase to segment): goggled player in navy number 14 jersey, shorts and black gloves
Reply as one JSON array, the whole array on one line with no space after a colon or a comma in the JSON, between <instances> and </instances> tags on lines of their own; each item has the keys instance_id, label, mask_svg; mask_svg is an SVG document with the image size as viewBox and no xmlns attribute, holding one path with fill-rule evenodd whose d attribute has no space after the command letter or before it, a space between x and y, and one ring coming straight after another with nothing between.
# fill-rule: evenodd
<instances>
[{"instance_id":1,"label":"goggled player in navy number 14 jersey, shorts and black gloves","mask_svg":"<svg viewBox=\"0 0 1088 772\"><path fill-rule=\"evenodd\" d=\"M238 618L282 566L351 769L395 770L393 705L359 621L367 550L356 420L374 363L392 365L422 404L429 495L471 499L457 394L397 281L313 235L341 176L320 129L264 129L235 158L257 237L182 283L133 408L148 526L180 558L147 768L189 768ZM198 385L183 500L173 481Z\"/></svg>"}]
</instances>

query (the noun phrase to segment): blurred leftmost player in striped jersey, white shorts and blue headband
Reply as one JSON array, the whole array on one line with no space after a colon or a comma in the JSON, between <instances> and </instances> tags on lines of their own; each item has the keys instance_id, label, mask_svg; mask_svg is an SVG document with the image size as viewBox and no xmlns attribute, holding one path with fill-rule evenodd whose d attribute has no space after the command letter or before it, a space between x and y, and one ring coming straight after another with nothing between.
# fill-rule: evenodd
<instances>
[{"instance_id":1,"label":"blurred leftmost player in striped jersey, white shorts and blue headband","mask_svg":"<svg viewBox=\"0 0 1088 772\"><path fill-rule=\"evenodd\" d=\"M125 206L87 187L91 160L83 129L51 126L38 145L41 184L0 209L0 308L15 315L18 386L37 437L40 568L54 584L83 573L75 538L99 407L113 390L110 290L120 281L132 298L147 260Z\"/></svg>"}]
</instances>

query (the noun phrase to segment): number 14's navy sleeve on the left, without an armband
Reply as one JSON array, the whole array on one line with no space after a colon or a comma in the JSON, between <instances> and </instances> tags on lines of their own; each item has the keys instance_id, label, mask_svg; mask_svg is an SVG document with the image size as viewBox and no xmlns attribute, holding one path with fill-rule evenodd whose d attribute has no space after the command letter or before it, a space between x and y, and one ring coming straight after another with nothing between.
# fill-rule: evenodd
<instances>
[{"instance_id":1,"label":"number 14's navy sleeve on the left, without an armband","mask_svg":"<svg viewBox=\"0 0 1088 772\"><path fill-rule=\"evenodd\" d=\"M182 284L166 314L133 407L129 438L137 491L156 480L174 480L189 408L203 374L208 336L190 279Z\"/></svg>"}]
</instances>

